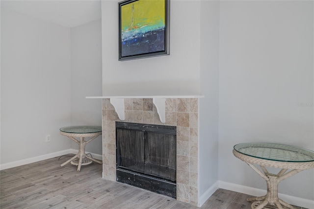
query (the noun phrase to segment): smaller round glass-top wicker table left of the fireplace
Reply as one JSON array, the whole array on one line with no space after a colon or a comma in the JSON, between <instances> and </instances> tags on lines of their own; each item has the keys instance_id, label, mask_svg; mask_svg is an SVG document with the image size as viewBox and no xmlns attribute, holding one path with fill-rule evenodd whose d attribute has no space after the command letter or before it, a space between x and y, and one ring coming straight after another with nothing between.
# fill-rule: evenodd
<instances>
[{"instance_id":1,"label":"smaller round glass-top wicker table left of the fireplace","mask_svg":"<svg viewBox=\"0 0 314 209\"><path fill-rule=\"evenodd\" d=\"M87 143L95 139L97 136L102 135L102 127L100 126L68 126L60 129L60 134L69 137L72 141L78 144L78 154L61 164L61 167L71 162L72 165L77 165L77 171L80 171L82 165L88 165L93 161L102 164L101 160L94 159L86 156L85 146ZM74 138L79 137L79 140ZM86 137L91 137L85 141Z\"/></svg>"}]
</instances>

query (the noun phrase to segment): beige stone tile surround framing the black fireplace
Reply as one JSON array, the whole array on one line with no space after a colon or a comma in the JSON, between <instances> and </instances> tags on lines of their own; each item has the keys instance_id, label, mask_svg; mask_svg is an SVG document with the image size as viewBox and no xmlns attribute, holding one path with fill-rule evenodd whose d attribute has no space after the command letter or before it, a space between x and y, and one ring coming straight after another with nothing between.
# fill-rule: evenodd
<instances>
[{"instance_id":1,"label":"beige stone tile surround framing the black fireplace","mask_svg":"<svg viewBox=\"0 0 314 209\"><path fill-rule=\"evenodd\" d=\"M177 200L197 206L198 99L166 99L165 123L160 122L153 99L125 99L124 103L124 122L177 126ZM103 178L114 182L116 121L121 120L110 100L103 99Z\"/></svg>"}]
</instances>

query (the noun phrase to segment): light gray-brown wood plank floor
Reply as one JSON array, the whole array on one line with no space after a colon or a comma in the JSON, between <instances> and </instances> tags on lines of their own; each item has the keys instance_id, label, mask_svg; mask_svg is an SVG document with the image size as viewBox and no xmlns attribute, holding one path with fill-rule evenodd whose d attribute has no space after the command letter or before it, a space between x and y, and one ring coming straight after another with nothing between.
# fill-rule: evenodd
<instances>
[{"instance_id":1,"label":"light gray-brown wood plank floor","mask_svg":"<svg viewBox=\"0 0 314 209\"><path fill-rule=\"evenodd\" d=\"M197 209L173 198L102 179L102 165L54 157L0 171L1 209ZM251 209L250 195L218 189L202 209ZM270 207L271 208L271 207ZM296 207L301 209L300 207Z\"/></svg>"}]
</instances>

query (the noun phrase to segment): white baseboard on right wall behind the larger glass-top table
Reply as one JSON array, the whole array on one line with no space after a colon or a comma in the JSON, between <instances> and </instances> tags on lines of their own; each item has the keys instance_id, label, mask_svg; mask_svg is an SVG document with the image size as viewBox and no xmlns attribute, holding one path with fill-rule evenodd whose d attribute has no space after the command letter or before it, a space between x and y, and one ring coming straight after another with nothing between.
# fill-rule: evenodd
<instances>
[{"instance_id":1,"label":"white baseboard on right wall behind the larger glass-top table","mask_svg":"<svg viewBox=\"0 0 314 209\"><path fill-rule=\"evenodd\" d=\"M236 192L249 194L253 196L263 196L266 194L266 190L257 189L257 188L253 188L249 186L243 186L243 185L239 185L235 183L218 181L218 186L219 188L222 188L222 189L236 191ZM299 206L299 207L307 208L307 209L314 209L313 200L303 199L303 198L294 197L294 196L281 194L281 193L278 193L278 196L280 199L282 199L283 201L286 201L290 205Z\"/></svg>"}]
</instances>

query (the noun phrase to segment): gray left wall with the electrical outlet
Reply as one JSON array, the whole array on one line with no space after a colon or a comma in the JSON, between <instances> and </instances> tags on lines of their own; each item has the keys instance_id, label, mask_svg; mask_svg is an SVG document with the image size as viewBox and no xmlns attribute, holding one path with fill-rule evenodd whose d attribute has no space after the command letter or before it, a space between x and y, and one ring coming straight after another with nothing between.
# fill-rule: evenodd
<instances>
[{"instance_id":1,"label":"gray left wall with the electrical outlet","mask_svg":"<svg viewBox=\"0 0 314 209\"><path fill-rule=\"evenodd\" d=\"M70 29L1 7L1 164L69 149L70 81Z\"/></svg>"}]
</instances>

